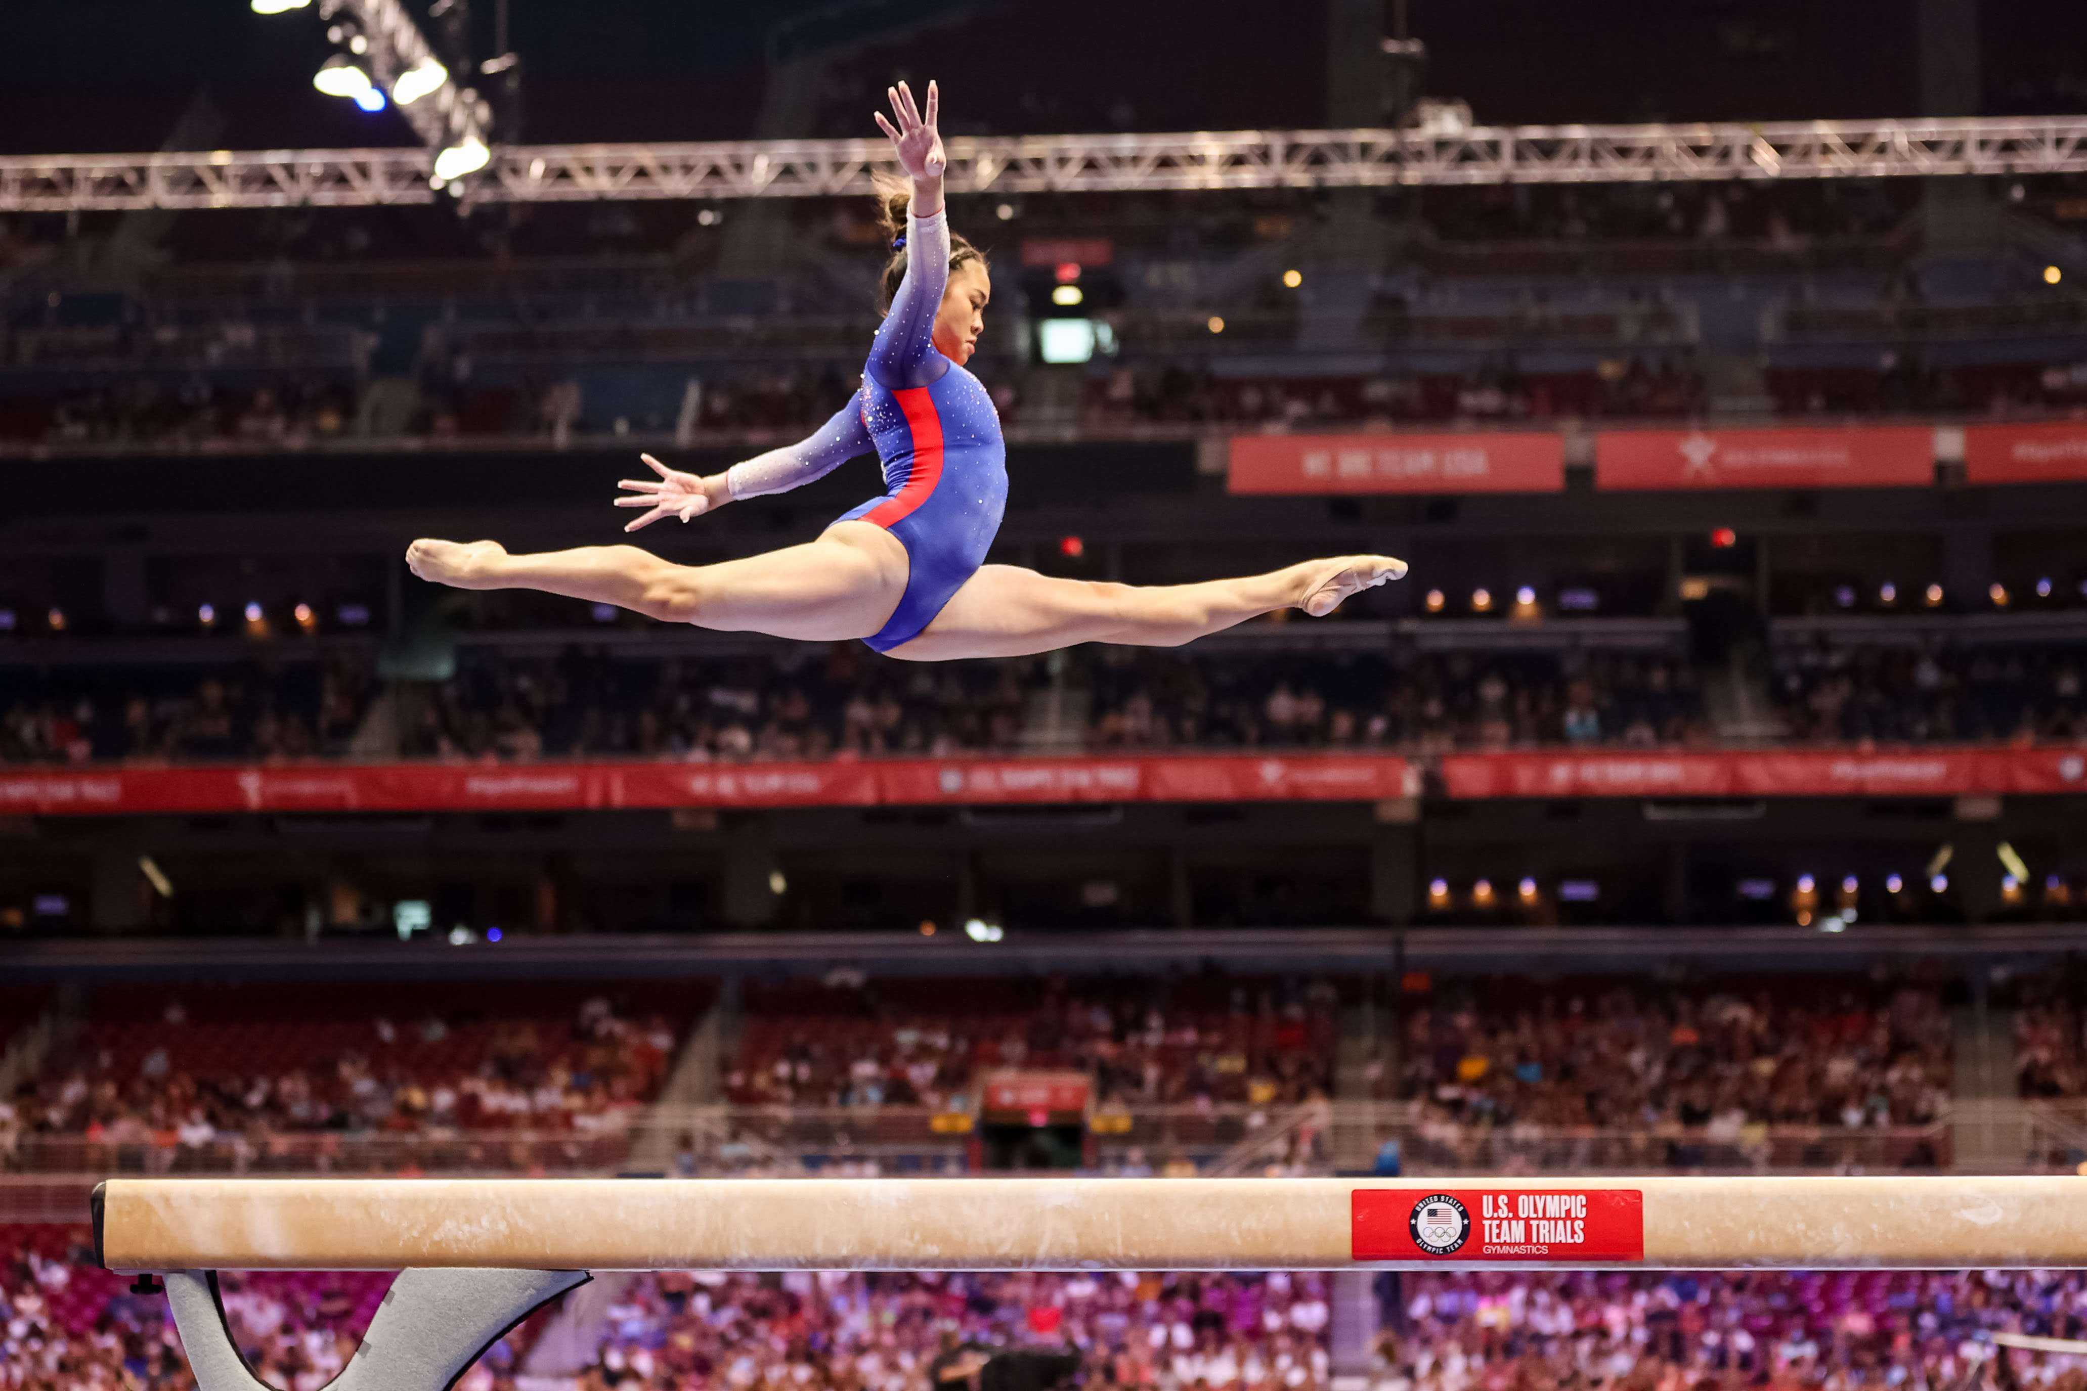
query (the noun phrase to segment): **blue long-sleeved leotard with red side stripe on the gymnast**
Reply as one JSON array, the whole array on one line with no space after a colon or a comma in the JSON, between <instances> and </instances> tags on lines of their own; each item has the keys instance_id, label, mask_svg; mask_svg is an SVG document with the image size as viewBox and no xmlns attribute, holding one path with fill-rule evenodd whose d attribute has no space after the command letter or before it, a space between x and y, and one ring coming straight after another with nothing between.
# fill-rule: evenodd
<instances>
[{"instance_id":1,"label":"blue long-sleeved leotard with red side stripe on the gymnast","mask_svg":"<svg viewBox=\"0 0 2087 1391\"><path fill-rule=\"evenodd\" d=\"M879 653L920 636L985 563L1008 503L1000 413L975 375L935 350L935 311L950 282L945 213L908 217L906 279L877 330L858 390L818 434L733 467L735 498L799 488L877 450L885 494L837 521L868 521L906 546L906 594L864 638Z\"/></svg>"}]
</instances>

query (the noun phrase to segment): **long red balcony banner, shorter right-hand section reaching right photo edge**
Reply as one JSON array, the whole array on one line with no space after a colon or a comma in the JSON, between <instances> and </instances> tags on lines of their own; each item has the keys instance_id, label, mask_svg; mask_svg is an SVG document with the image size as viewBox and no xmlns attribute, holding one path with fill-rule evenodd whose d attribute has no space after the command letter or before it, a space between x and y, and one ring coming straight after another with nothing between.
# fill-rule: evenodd
<instances>
[{"instance_id":1,"label":"long red balcony banner, shorter right-hand section reaching right photo edge","mask_svg":"<svg viewBox=\"0 0 2087 1391\"><path fill-rule=\"evenodd\" d=\"M1893 753L1459 753L1450 797L1956 797L2081 792L2081 749L1908 749Z\"/></svg>"}]
</instances>

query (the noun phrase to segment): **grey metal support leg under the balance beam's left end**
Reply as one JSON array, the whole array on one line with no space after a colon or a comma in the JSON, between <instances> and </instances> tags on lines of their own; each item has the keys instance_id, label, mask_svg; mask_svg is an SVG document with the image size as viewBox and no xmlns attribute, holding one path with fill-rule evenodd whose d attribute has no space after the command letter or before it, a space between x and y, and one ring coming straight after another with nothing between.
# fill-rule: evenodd
<instances>
[{"instance_id":1,"label":"grey metal support leg under the balance beam's left end","mask_svg":"<svg viewBox=\"0 0 2087 1391\"><path fill-rule=\"evenodd\" d=\"M503 1333L584 1270L401 1270L330 1391L449 1391ZM215 1270L169 1270L167 1303L198 1391L273 1391L248 1370Z\"/></svg>"}]
</instances>

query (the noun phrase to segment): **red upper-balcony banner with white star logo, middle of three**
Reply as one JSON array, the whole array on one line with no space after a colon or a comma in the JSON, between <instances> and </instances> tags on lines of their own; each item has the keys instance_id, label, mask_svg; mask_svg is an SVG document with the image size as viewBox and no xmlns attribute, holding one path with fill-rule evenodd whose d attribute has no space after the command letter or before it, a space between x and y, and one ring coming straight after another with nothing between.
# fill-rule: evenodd
<instances>
[{"instance_id":1,"label":"red upper-balcony banner with white star logo, middle of three","mask_svg":"<svg viewBox=\"0 0 2087 1391\"><path fill-rule=\"evenodd\" d=\"M1926 425L1809 430L1603 430L1597 488L1920 488L1935 482Z\"/></svg>"}]
</instances>

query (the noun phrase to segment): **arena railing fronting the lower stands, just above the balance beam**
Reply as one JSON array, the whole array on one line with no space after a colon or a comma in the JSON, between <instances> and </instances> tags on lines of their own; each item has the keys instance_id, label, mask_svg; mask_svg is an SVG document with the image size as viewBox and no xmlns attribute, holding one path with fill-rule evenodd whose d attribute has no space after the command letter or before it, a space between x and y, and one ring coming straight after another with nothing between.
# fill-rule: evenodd
<instances>
[{"instance_id":1,"label":"arena railing fronting the lower stands, just above the balance beam","mask_svg":"<svg viewBox=\"0 0 2087 1391\"><path fill-rule=\"evenodd\" d=\"M1396 1141L1411 1174L1899 1172L1970 1164L1987 1172L2072 1172L2087 1160L2087 1101L1951 1103L1922 1124L1542 1126L1484 1124L1407 1101L1294 1107L1156 1105L1087 1120L1096 1172L1334 1172L1367 1168ZM970 1116L927 1107L657 1107L622 1128L221 1134L184 1145L136 1139L0 1137L0 1174L33 1187L81 1174L614 1174L643 1141L666 1139L674 1172L966 1172ZM1258 1143L1273 1137L1277 1143ZM1227 1164L1227 1160L1231 1160Z\"/></svg>"}]
</instances>

